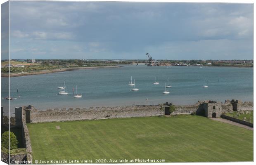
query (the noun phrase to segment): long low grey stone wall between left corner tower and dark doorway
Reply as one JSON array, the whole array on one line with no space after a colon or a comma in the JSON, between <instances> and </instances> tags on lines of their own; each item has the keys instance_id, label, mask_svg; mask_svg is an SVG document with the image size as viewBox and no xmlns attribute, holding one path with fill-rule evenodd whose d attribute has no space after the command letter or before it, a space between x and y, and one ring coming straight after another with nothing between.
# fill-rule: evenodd
<instances>
[{"instance_id":1,"label":"long low grey stone wall between left corner tower and dark doorway","mask_svg":"<svg viewBox=\"0 0 256 165\"><path fill-rule=\"evenodd\" d=\"M161 106L116 106L97 108L48 109L38 111L31 106L30 122L59 122L69 120L92 120L103 118L131 118L164 115Z\"/></svg>"}]
</instances>

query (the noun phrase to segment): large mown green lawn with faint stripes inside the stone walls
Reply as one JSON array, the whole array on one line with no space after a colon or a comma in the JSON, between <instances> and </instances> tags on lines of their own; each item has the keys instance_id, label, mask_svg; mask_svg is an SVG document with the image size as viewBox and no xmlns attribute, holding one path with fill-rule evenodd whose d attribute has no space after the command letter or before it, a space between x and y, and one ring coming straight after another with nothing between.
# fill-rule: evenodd
<instances>
[{"instance_id":1,"label":"large mown green lawn with faint stripes inside the stone walls","mask_svg":"<svg viewBox=\"0 0 256 165\"><path fill-rule=\"evenodd\" d=\"M253 161L253 131L201 116L30 123L28 130L33 160Z\"/></svg>"}]
</instances>

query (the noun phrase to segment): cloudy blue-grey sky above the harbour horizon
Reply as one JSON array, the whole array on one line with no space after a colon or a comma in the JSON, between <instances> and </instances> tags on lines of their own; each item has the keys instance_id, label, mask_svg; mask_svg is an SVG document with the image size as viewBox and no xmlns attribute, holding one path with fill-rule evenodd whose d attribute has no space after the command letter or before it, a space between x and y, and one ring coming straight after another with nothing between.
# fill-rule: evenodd
<instances>
[{"instance_id":1,"label":"cloudy blue-grey sky above the harbour horizon","mask_svg":"<svg viewBox=\"0 0 256 165\"><path fill-rule=\"evenodd\" d=\"M253 5L10 2L11 59L253 59Z\"/></svg>"}]
</instances>

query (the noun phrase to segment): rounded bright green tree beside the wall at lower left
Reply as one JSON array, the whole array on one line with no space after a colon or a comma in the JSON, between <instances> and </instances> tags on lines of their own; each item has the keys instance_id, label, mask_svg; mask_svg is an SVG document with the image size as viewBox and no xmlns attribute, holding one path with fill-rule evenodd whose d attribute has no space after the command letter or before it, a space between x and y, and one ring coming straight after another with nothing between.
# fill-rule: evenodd
<instances>
[{"instance_id":1,"label":"rounded bright green tree beside the wall at lower left","mask_svg":"<svg viewBox=\"0 0 256 165\"><path fill-rule=\"evenodd\" d=\"M1 144L5 148L9 148L9 131L5 131L2 134ZM12 150L12 149L18 148L17 144L18 144L17 137L13 132L10 132L10 149Z\"/></svg>"}]
</instances>

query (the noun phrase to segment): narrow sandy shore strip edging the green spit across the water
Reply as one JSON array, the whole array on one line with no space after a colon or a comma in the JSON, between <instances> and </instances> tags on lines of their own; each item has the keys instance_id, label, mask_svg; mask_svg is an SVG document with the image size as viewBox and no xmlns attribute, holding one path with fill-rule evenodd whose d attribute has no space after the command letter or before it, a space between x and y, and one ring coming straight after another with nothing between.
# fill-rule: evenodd
<instances>
[{"instance_id":1,"label":"narrow sandy shore strip edging the green spit across the water","mask_svg":"<svg viewBox=\"0 0 256 165\"><path fill-rule=\"evenodd\" d=\"M64 71L73 71L78 69L95 69L95 68L119 68L122 66L88 66L88 67L74 67L74 68L60 68L60 69L51 69L51 70L42 70L42 71L32 71L25 73L11 73L10 77L26 76L26 75L39 75L46 73L55 73L55 72L64 72ZM9 77L9 74L1 74L1 77Z\"/></svg>"}]
</instances>

